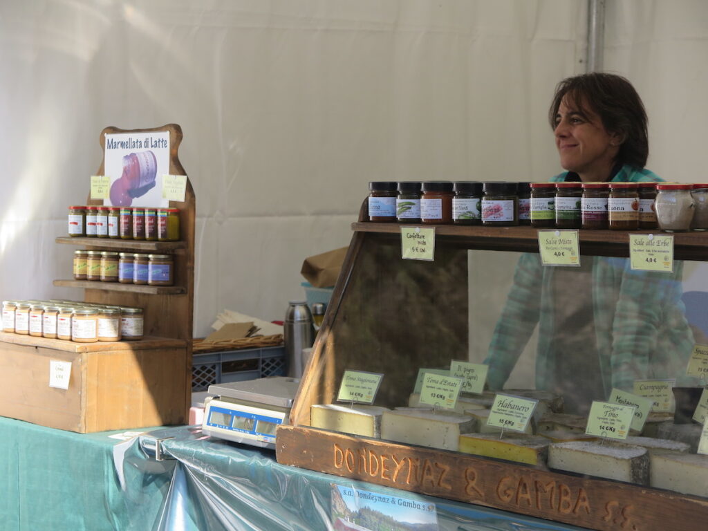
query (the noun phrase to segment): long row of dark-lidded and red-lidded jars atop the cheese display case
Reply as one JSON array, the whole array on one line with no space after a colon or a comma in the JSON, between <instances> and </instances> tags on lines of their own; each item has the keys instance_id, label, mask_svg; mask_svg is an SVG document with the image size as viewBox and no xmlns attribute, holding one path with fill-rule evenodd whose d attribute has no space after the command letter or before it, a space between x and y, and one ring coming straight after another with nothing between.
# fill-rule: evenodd
<instances>
[{"instance_id":1,"label":"long row of dark-lidded and red-lidded jars atop the cheese display case","mask_svg":"<svg viewBox=\"0 0 708 531\"><path fill-rule=\"evenodd\" d=\"M370 190L372 222L708 229L708 184L408 181L372 182Z\"/></svg>"}]
</instances>

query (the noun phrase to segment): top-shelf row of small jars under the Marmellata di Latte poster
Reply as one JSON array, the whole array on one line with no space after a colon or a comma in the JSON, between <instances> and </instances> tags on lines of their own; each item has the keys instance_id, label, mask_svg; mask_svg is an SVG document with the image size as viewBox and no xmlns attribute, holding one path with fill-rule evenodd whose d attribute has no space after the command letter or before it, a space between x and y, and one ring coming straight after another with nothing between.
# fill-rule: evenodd
<instances>
[{"instance_id":1,"label":"top-shelf row of small jars under the Marmellata di Latte poster","mask_svg":"<svg viewBox=\"0 0 708 531\"><path fill-rule=\"evenodd\" d=\"M69 236L177 241L178 208L69 207Z\"/></svg>"}]
</instances>

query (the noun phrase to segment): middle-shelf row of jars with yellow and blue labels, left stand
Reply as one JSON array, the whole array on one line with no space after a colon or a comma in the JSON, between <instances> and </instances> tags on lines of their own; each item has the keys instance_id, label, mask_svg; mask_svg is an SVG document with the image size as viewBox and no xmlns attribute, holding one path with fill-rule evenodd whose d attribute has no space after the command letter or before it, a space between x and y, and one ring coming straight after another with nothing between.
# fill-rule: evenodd
<instances>
[{"instance_id":1,"label":"middle-shelf row of jars with yellow and blue labels, left stand","mask_svg":"<svg viewBox=\"0 0 708 531\"><path fill-rule=\"evenodd\" d=\"M74 279L171 286L174 261L169 254L74 251Z\"/></svg>"}]
</instances>

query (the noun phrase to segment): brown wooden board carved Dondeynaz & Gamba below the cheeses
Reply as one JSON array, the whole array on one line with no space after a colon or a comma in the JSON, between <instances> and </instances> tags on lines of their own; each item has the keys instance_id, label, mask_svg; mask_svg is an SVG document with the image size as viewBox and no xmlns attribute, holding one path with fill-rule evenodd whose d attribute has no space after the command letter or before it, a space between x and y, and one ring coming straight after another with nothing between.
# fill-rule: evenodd
<instances>
[{"instance_id":1,"label":"brown wooden board carved Dondeynaz & Gamba below the cheeses","mask_svg":"<svg viewBox=\"0 0 708 531\"><path fill-rule=\"evenodd\" d=\"M433 448L278 426L282 464L608 531L701 529L708 501Z\"/></svg>"}]
</instances>

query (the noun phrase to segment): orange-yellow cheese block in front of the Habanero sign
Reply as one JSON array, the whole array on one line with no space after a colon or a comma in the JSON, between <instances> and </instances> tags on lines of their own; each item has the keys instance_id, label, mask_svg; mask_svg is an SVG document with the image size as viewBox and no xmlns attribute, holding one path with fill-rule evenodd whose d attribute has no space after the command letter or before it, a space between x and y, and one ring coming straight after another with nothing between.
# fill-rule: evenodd
<instances>
[{"instance_id":1,"label":"orange-yellow cheese block in front of the Habanero sign","mask_svg":"<svg viewBox=\"0 0 708 531\"><path fill-rule=\"evenodd\" d=\"M526 464L546 464L549 444L548 439L538 435L505 435L502 439L493 433L459 436L460 452Z\"/></svg>"}]
</instances>

